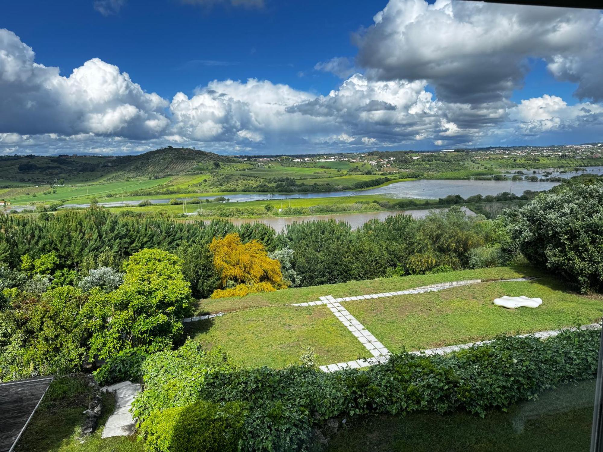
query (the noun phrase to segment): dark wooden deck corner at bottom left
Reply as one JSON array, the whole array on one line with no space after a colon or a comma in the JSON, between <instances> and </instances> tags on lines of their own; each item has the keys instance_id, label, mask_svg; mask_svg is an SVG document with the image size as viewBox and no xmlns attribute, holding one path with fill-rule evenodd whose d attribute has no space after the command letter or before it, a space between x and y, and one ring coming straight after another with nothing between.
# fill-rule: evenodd
<instances>
[{"instance_id":1,"label":"dark wooden deck corner at bottom left","mask_svg":"<svg viewBox=\"0 0 603 452\"><path fill-rule=\"evenodd\" d=\"M52 378L0 383L0 452L13 450Z\"/></svg>"}]
</instances>

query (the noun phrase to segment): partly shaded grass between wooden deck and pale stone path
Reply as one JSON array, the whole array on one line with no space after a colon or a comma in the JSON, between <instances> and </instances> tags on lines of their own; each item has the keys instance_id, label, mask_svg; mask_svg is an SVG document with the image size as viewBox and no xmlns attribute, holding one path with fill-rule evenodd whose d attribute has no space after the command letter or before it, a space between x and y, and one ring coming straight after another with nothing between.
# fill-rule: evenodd
<instances>
[{"instance_id":1,"label":"partly shaded grass between wooden deck and pale stone path","mask_svg":"<svg viewBox=\"0 0 603 452\"><path fill-rule=\"evenodd\" d=\"M86 416L83 411L93 396L81 376L57 377L52 381L27 426L16 450L39 452L142 452L136 438L119 436L101 439L103 425L115 406L113 395L103 395L99 427L86 439L80 437Z\"/></svg>"}]
</instances>

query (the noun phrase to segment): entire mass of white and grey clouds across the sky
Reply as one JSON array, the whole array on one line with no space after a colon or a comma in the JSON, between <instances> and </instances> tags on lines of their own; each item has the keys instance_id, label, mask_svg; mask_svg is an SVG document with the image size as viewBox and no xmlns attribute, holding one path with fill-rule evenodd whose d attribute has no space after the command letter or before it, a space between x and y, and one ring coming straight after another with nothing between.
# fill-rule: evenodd
<instances>
[{"instance_id":1,"label":"entire mass of white and grey clouds across the sky","mask_svg":"<svg viewBox=\"0 0 603 452\"><path fill-rule=\"evenodd\" d=\"M123 4L98 0L95 8L113 14ZM555 142L561 132L581 142L603 132L601 11L390 0L373 20L353 38L355 57L316 63L341 78L327 95L250 78L214 80L171 100L99 58L64 77L0 29L0 154L431 149ZM530 59L575 83L579 100L511 101Z\"/></svg>"}]
</instances>

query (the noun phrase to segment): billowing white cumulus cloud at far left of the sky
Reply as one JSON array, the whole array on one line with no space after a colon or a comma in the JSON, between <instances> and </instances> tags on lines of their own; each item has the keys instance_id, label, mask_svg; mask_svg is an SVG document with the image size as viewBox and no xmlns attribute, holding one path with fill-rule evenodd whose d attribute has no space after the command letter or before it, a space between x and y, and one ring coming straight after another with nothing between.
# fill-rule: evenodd
<instances>
[{"instance_id":1,"label":"billowing white cumulus cloud at far left of the sky","mask_svg":"<svg viewBox=\"0 0 603 452\"><path fill-rule=\"evenodd\" d=\"M69 77L34 61L33 49L0 29L0 133L96 133L152 138L169 125L168 102L98 58Z\"/></svg>"}]
</instances>

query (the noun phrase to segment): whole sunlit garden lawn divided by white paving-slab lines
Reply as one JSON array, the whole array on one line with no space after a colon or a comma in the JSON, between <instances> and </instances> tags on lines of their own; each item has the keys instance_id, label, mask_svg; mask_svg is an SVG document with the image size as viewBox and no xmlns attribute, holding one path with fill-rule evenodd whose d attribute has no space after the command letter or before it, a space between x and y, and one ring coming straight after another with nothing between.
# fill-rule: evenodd
<instances>
[{"instance_id":1,"label":"whole sunlit garden lawn divided by white paving-slab lines","mask_svg":"<svg viewBox=\"0 0 603 452\"><path fill-rule=\"evenodd\" d=\"M241 365L284 367L312 347L318 365L370 357L326 305L286 306L324 295L350 297L393 292L429 284L481 278L537 276L531 268L490 268L434 275L380 278L327 286L259 293L243 298L201 300L199 312L223 316L191 322L188 334L207 347L221 347ZM538 309L494 306L503 295L541 297ZM392 353L492 339L499 334L534 333L603 317L603 297L578 295L555 278L490 281L437 292L398 295L341 304Z\"/></svg>"}]
</instances>

